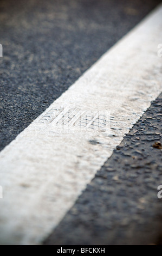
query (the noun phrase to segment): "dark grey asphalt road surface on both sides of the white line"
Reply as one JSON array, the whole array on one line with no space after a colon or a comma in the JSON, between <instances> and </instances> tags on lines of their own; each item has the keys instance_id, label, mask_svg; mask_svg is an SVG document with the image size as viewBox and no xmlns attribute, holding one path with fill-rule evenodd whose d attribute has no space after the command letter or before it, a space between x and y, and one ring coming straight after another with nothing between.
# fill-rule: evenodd
<instances>
[{"instance_id":1,"label":"dark grey asphalt road surface on both sides of the white line","mask_svg":"<svg viewBox=\"0 0 162 256\"><path fill-rule=\"evenodd\" d=\"M0 1L1 150L160 2ZM154 192L161 150L152 148L161 141L161 101L152 102L45 245L161 244Z\"/></svg>"}]
</instances>

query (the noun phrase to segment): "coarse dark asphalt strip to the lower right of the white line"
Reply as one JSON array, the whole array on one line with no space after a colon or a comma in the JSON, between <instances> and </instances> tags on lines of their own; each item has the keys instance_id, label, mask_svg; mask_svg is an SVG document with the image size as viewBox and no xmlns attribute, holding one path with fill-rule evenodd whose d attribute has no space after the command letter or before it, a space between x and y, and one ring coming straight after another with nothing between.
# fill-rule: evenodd
<instances>
[{"instance_id":1,"label":"coarse dark asphalt strip to the lower right of the white line","mask_svg":"<svg viewBox=\"0 0 162 256\"><path fill-rule=\"evenodd\" d=\"M162 245L161 131L162 93L44 245Z\"/></svg>"}]
</instances>

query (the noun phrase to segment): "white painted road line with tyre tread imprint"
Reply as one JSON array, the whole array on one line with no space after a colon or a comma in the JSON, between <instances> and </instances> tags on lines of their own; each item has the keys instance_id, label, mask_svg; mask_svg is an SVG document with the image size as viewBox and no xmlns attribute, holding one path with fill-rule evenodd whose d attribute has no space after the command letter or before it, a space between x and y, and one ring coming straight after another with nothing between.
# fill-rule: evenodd
<instances>
[{"instance_id":1,"label":"white painted road line with tyre tread imprint","mask_svg":"<svg viewBox=\"0 0 162 256\"><path fill-rule=\"evenodd\" d=\"M1 244L41 243L160 94L161 17L160 6L1 152Z\"/></svg>"}]
</instances>

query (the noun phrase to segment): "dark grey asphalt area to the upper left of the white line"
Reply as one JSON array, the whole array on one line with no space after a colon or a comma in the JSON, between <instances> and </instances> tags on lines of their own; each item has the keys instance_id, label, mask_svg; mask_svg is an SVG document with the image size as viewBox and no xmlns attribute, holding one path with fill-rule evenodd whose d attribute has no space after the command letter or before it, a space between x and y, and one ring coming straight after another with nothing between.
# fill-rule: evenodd
<instances>
[{"instance_id":1,"label":"dark grey asphalt area to the upper left of the white line","mask_svg":"<svg viewBox=\"0 0 162 256\"><path fill-rule=\"evenodd\" d=\"M0 1L0 149L158 3Z\"/></svg>"}]
</instances>

